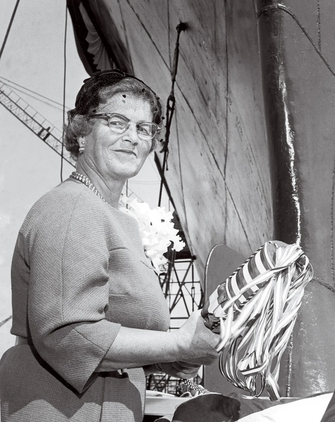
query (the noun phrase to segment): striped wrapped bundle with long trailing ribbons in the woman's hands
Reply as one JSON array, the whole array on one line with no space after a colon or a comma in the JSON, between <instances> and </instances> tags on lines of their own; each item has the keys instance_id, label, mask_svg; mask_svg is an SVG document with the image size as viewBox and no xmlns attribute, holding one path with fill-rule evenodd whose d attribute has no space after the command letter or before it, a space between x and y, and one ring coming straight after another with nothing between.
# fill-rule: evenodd
<instances>
[{"instance_id":1,"label":"striped wrapped bundle with long trailing ribbons in the woman's hands","mask_svg":"<svg viewBox=\"0 0 335 422\"><path fill-rule=\"evenodd\" d=\"M220 329L220 371L235 387L281 397L281 356L312 277L300 246L269 241L209 297L202 316L208 328Z\"/></svg>"}]
</instances>

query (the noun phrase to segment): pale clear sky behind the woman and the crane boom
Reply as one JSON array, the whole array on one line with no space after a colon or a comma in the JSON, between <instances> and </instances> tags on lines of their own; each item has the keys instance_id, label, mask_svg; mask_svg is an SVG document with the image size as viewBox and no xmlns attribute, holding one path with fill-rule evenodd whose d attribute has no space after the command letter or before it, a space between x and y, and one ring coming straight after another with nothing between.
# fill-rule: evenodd
<instances>
[{"instance_id":1,"label":"pale clear sky behind the woman and the crane boom","mask_svg":"<svg viewBox=\"0 0 335 422\"><path fill-rule=\"evenodd\" d=\"M0 45L16 0L0 0ZM63 102L65 0L21 0L0 59L1 77L58 103ZM68 16L66 37L66 106L73 108L87 77L78 57ZM0 84L1 86L1 84ZM21 88L20 88L21 89ZM62 110L17 92L59 130ZM48 102L48 101L47 101ZM159 176L153 155L129 187L151 208L157 206ZM63 179L73 171L64 162ZM11 258L17 233L31 206L60 183L60 157L0 104L0 323L11 315ZM168 208L167 195L162 206ZM11 320L0 327L0 357L15 338Z\"/></svg>"}]
</instances>

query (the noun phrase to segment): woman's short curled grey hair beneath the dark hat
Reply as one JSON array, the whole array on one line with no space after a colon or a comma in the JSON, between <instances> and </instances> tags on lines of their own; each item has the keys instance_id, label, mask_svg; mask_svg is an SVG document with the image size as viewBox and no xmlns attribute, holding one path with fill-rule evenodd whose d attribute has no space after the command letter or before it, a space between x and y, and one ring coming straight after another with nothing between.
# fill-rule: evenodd
<instances>
[{"instance_id":1,"label":"woman's short curled grey hair beneath the dark hat","mask_svg":"<svg viewBox=\"0 0 335 422\"><path fill-rule=\"evenodd\" d=\"M135 78L126 77L119 82L109 86L103 87L98 90L97 95L99 96L99 106L106 104L108 100L115 94L121 92L127 92L128 94L134 95L136 98L140 98L150 104L151 112L153 115L153 122L161 127L152 139L151 151L157 148L164 139L164 127L163 127L163 106L159 97L155 95L151 89L143 84L141 81ZM79 155L79 143L78 138L81 136L87 136L92 131L93 121L88 116L94 114L96 108L93 106L89 108L87 114L76 114L76 109L68 111L68 123L64 124L64 143L65 148L71 153L71 156L76 160Z\"/></svg>"}]
</instances>

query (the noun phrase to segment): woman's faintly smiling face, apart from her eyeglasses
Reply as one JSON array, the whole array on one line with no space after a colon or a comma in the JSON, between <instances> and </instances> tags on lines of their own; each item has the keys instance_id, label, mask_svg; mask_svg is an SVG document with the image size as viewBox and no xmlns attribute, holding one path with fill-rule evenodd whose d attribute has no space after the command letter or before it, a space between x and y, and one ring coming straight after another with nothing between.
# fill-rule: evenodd
<instances>
[{"instance_id":1,"label":"woman's faintly smiling face, apart from her eyeglasses","mask_svg":"<svg viewBox=\"0 0 335 422\"><path fill-rule=\"evenodd\" d=\"M122 134L112 133L107 118L93 118L91 133L79 139L85 142L84 160L103 179L126 180L135 176L148 157L152 141L138 137L135 122L152 122L150 104L128 93L113 95L95 114L118 113L131 120Z\"/></svg>"}]
</instances>

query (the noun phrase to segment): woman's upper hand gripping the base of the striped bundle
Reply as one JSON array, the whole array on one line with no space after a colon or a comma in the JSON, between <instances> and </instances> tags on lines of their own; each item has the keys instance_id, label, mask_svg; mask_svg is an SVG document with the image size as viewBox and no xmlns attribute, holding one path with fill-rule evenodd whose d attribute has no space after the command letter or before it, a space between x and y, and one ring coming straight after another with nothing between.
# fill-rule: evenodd
<instances>
[{"instance_id":1,"label":"woman's upper hand gripping the base of the striped bundle","mask_svg":"<svg viewBox=\"0 0 335 422\"><path fill-rule=\"evenodd\" d=\"M219 357L215 346L220 336L205 327L200 314L200 309L192 312L185 324L176 330L179 356L190 364L211 365Z\"/></svg>"}]
</instances>

